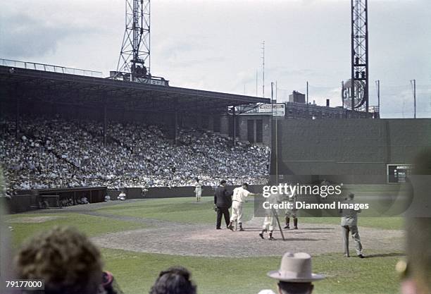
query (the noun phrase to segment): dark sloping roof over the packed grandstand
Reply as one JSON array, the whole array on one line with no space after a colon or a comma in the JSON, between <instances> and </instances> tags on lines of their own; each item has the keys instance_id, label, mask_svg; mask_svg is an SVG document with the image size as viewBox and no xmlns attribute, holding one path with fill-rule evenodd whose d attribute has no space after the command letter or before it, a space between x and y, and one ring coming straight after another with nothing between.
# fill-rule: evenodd
<instances>
[{"instance_id":1,"label":"dark sloping roof over the packed grandstand","mask_svg":"<svg viewBox=\"0 0 431 294\"><path fill-rule=\"evenodd\" d=\"M0 94L6 97L7 102L13 102L17 96L66 105L100 107L106 102L108 108L137 111L174 112L176 109L189 113L215 113L225 110L227 106L270 103L267 98L12 66L0 66L1 88L6 90L6 93Z\"/></svg>"}]
</instances>

